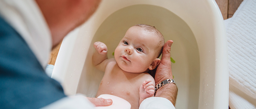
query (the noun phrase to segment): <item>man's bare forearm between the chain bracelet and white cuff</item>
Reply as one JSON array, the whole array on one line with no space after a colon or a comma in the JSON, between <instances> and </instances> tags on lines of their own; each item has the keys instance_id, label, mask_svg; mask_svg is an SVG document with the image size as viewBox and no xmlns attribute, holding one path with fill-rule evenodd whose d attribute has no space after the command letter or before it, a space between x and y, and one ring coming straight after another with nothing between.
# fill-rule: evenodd
<instances>
[{"instance_id":1,"label":"man's bare forearm between the chain bracelet and white cuff","mask_svg":"<svg viewBox=\"0 0 256 109\"><path fill-rule=\"evenodd\" d=\"M157 89L155 97L166 98L170 100L172 104L175 106L177 94L178 94L177 86L173 83L170 83L170 84L163 85L159 89Z\"/></svg>"}]
</instances>

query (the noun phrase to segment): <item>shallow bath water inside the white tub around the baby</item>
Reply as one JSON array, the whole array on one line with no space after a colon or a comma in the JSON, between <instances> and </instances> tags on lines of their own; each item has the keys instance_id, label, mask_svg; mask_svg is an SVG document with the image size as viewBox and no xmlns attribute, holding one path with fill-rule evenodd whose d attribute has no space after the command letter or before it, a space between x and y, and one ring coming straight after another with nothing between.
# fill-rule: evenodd
<instances>
[{"instance_id":1,"label":"shallow bath water inside the white tub around the baby","mask_svg":"<svg viewBox=\"0 0 256 109\"><path fill-rule=\"evenodd\" d=\"M200 64L196 39L188 25L169 10L154 5L132 5L112 13L98 28L89 51L94 51L94 42L101 41L108 47L108 57L113 58L112 53L125 32L135 24L155 26L165 41L173 40L171 57L176 62L172 63L172 73L178 86L176 109L198 109ZM104 74L91 65L92 56L93 52L88 52L77 88L77 93L89 97L95 97ZM86 80L94 84L85 84Z\"/></svg>"}]
</instances>

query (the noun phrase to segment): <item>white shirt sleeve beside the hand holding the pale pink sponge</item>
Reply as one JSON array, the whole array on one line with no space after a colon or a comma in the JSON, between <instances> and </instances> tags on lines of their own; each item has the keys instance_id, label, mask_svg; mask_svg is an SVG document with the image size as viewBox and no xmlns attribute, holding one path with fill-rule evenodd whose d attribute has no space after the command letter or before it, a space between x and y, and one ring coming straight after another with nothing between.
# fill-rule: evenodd
<instances>
[{"instance_id":1,"label":"white shirt sleeve beside the hand holding the pale pink sponge","mask_svg":"<svg viewBox=\"0 0 256 109\"><path fill-rule=\"evenodd\" d=\"M86 97L64 97L41 109L94 109L94 105Z\"/></svg>"}]
</instances>

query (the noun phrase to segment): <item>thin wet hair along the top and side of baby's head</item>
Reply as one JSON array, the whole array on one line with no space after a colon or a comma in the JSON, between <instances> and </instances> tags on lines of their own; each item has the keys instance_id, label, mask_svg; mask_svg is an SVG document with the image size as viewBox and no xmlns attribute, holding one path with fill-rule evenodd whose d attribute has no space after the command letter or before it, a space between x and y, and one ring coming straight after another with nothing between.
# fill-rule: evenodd
<instances>
[{"instance_id":1,"label":"thin wet hair along the top and side of baby's head","mask_svg":"<svg viewBox=\"0 0 256 109\"><path fill-rule=\"evenodd\" d=\"M137 24L134 26L138 26L141 27L143 31L148 31L148 32L154 32L156 36L158 36L159 38L159 44L158 47L156 49L157 51L157 58L159 58L162 54L162 49L163 49L163 45L165 44L165 39L163 38L163 35L160 31L157 30L157 28L151 26L151 25L147 25L147 24Z\"/></svg>"}]
</instances>

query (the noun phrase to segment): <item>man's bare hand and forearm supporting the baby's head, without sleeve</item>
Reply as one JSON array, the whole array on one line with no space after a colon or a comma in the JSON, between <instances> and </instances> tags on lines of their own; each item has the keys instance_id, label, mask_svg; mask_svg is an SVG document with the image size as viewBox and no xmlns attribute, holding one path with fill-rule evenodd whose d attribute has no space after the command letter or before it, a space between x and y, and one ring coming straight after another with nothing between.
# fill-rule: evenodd
<instances>
[{"instance_id":1,"label":"man's bare hand and forearm supporting the baby's head, without sleeve","mask_svg":"<svg viewBox=\"0 0 256 109\"><path fill-rule=\"evenodd\" d=\"M171 67L172 64L170 60L170 56L171 56L170 50L171 50L172 43L173 43L172 40L168 40L165 43L165 45L163 45L161 62L156 68L156 70L152 71L152 72L155 72L155 85L159 84L163 80L173 79L172 67ZM167 98L175 106L177 94L178 94L177 86L173 83L170 83L170 84L161 86L157 90L155 97Z\"/></svg>"}]
</instances>

